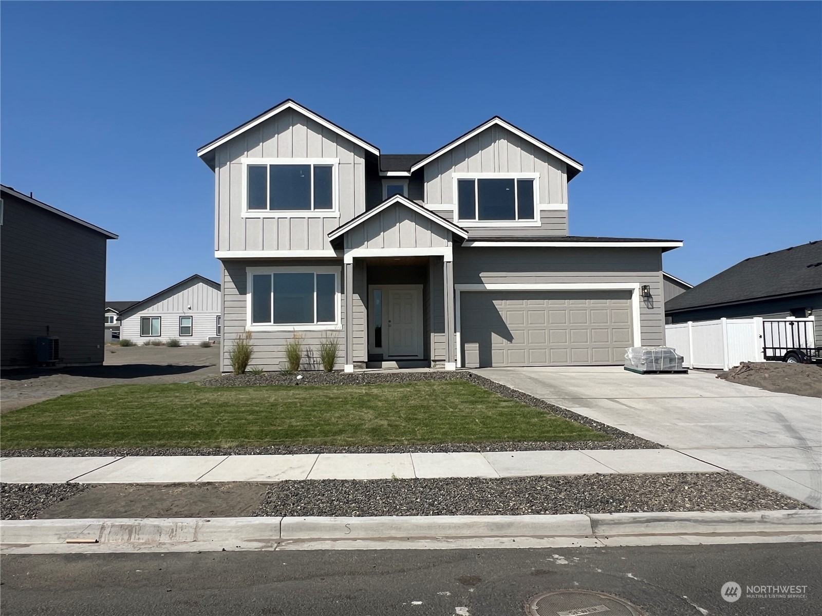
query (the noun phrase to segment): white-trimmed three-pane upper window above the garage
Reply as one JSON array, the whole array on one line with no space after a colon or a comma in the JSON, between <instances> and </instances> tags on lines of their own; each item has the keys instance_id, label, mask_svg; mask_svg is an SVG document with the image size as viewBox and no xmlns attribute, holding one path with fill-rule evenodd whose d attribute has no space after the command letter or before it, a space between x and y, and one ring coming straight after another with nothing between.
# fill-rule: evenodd
<instances>
[{"instance_id":1,"label":"white-trimmed three-pane upper window above the garage","mask_svg":"<svg viewBox=\"0 0 822 616\"><path fill-rule=\"evenodd\" d=\"M534 177L469 177L457 179L457 219L460 221L533 221L536 214Z\"/></svg>"}]
</instances>

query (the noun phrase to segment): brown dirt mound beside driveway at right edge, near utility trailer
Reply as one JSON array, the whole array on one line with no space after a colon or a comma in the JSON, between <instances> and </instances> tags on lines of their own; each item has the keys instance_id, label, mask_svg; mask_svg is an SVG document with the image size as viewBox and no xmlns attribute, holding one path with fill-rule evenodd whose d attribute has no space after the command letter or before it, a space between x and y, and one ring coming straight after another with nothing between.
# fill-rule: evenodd
<instances>
[{"instance_id":1,"label":"brown dirt mound beside driveway at right edge, near utility trailer","mask_svg":"<svg viewBox=\"0 0 822 616\"><path fill-rule=\"evenodd\" d=\"M769 392L822 398L822 365L819 364L743 361L736 368L720 372L717 379L750 385Z\"/></svg>"}]
</instances>

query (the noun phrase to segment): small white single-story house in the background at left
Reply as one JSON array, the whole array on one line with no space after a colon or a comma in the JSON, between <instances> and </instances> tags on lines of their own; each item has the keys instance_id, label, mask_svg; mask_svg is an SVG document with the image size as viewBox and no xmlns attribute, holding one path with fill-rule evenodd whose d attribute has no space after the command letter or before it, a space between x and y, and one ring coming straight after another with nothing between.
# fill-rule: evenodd
<instances>
[{"instance_id":1,"label":"small white single-story house in the background at left","mask_svg":"<svg viewBox=\"0 0 822 616\"><path fill-rule=\"evenodd\" d=\"M120 339L182 344L216 340L220 333L219 283L194 274L123 309L118 315Z\"/></svg>"}]
</instances>

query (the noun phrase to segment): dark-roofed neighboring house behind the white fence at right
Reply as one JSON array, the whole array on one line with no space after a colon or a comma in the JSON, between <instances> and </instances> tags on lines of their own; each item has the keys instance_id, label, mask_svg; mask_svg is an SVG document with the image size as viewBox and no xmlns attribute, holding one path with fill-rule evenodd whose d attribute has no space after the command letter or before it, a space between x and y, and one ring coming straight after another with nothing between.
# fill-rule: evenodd
<instances>
[{"instance_id":1,"label":"dark-roofed neighboring house behind the white fence at right","mask_svg":"<svg viewBox=\"0 0 822 616\"><path fill-rule=\"evenodd\" d=\"M822 241L749 257L665 302L672 323L814 316L822 344Z\"/></svg>"}]
</instances>

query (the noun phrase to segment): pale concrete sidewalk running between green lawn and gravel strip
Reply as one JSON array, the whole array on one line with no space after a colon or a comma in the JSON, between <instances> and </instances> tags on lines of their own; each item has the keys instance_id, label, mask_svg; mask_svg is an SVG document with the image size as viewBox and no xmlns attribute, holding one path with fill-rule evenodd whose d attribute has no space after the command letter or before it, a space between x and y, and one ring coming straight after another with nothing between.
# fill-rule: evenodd
<instances>
[{"instance_id":1,"label":"pale concrete sidewalk running between green lawn and gravel strip","mask_svg":"<svg viewBox=\"0 0 822 616\"><path fill-rule=\"evenodd\" d=\"M7 457L7 483L176 483L590 473L721 472L670 449L488 453L302 453L288 456Z\"/></svg>"}]
</instances>

